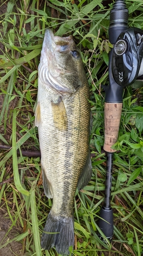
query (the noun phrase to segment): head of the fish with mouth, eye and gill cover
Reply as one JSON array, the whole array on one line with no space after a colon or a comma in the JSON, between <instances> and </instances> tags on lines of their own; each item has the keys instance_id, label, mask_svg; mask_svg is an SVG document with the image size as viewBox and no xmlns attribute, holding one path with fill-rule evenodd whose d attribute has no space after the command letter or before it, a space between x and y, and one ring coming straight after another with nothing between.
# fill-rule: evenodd
<instances>
[{"instance_id":1,"label":"head of the fish with mouth, eye and gill cover","mask_svg":"<svg viewBox=\"0 0 143 256\"><path fill-rule=\"evenodd\" d=\"M68 37L54 36L46 29L41 59L39 77L59 93L74 93L83 86L86 76L83 69L80 52L72 35Z\"/></svg>"}]
</instances>

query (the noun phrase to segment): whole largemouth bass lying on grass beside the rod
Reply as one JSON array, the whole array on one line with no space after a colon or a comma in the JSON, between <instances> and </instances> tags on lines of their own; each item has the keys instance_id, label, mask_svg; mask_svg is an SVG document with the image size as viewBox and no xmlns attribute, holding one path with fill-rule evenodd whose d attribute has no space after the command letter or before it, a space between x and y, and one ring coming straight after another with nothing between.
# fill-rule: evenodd
<instances>
[{"instance_id":1,"label":"whole largemouth bass lying on grass beside the rod","mask_svg":"<svg viewBox=\"0 0 143 256\"><path fill-rule=\"evenodd\" d=\"M44 193L52 207L41 238L46 250L63 256L74 248L76 188L92 175L88 80L72 35L46 29L38 67L35 126L38 127Z\"/></svg>"}]
</instances>

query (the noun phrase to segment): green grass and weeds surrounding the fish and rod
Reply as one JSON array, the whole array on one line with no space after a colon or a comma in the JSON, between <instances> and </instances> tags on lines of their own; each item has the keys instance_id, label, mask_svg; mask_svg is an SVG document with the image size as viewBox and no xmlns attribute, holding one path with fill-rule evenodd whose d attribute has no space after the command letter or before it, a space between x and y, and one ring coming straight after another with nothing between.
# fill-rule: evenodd
<instances>
[{"instance_id":1,"label":"green grass and weeds surrounding the fish and rod","mask_svg":"<svg viewBox=\"0 0 143 256\"><path fill-rule=\"evenodd\" d=\"M143 253L143 88L126 88L119 139L115 145L111 206L114 236L111 244L97 236L97 220L104 200L106 157L104 144L104 96L108 84L109 11L105 2L57 0L5 1L1 8L0 88L4 97L0 113L1 208L11 226L21 227L12 240L22 243L21 255L58 255L54 249L41 249L40 237L51 208L41 183L39 157L25 157L22 150L39 151L37 128L33 129L38 87L38 64L45 28L56 35L72 34L78 45L91 91L93 129L91 153L93 175L88 186L76 194L74 203L75 250L73 255L137 255ZM142 0L126 1L129 26L143 29ZM1 99L1 98L0 98ZM20 155L16 157L16 150Z\"/></svg>"}]
</instances>

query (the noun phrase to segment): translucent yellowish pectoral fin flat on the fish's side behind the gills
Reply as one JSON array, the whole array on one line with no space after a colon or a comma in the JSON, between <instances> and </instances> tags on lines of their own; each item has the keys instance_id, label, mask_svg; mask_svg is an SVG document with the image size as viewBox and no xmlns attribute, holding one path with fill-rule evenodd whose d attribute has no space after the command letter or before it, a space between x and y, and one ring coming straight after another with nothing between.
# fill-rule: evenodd
<instances>
[{"instance_id":1,"label":"translucent yellowish pectoral fin flat on the fish's side behind the gills","mask_svg":"<svg viewBox=\"0 0 143 256\"><path fill-rule=\"evenodd\" d=\"M56 128L60 131L67 130L68 121L67 114L63 100L59 97L58 102L51 102L52 113L53 113L53 122Z\"/></svg>"}]
</instances>

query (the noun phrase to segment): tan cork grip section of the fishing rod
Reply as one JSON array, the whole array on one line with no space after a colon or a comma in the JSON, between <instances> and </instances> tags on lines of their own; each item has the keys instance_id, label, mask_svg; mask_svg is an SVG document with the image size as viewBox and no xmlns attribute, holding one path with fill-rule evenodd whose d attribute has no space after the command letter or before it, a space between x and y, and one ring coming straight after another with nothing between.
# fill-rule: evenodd
<instances>
[{"instance_id":1,"label":"tan cork grip section of the fishing rod","mask_svg":"<svg viewBox=\"0 0 143 256\"><path fill-rule=\"evenodd\" d=\"M110 148L117 142L123 103L107 103L104 105L104 150L116 152Z\"/></svg>"}]
</instances>

